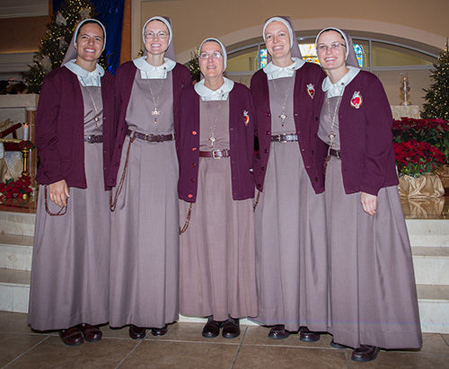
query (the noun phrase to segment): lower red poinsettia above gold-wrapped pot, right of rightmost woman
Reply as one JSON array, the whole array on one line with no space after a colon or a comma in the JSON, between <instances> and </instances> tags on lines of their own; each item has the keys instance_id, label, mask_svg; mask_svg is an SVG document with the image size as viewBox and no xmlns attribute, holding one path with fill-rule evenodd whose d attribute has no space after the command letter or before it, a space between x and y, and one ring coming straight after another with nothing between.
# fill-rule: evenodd
<instances>
[{"instance_id":1,"label":"lower red poinsettia above gold-wrapped pot, right of rightmost woman","mask_svg":"<svg viewBox=\"0 0 449 369\"><path fill-rule=\"evenodd\" d=\"M401 174L418 178L421 174L434 172L445 163L445 154L428 142L411 139L393 143L396 165Z\"/></svg>"}]
</instances>

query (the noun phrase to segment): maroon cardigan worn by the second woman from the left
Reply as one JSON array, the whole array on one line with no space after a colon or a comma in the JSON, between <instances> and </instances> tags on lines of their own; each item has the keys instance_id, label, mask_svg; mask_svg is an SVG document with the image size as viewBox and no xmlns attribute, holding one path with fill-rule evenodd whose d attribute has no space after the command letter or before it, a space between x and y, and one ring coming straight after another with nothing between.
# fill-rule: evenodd
<instances>
[{"instance_id":1,"label":"maroon cardigan worn by the second woman from the left","mask_svg":"<svg viewBox=\"0 0 449 369\"><path fill-rule=\"evenodd\" d=\"M130 61L119 66L115 79L115 113L118 119L117 127L115 129L115 143L113 148L112 158L110 160L110 170L108 173L107 183L110 187L115 187L117 184L117 174L119 171L121 151L123 149L123 142L127 135L128 124L126 121L129 99L134 84L138 69L135 64ZM173 123L175 136L178 138L179 132L179 114L180 110L180 94L182 90L191 84L191 76L189 69L176 63L172 69L173 82ZM177 139L176 145L179 145Z\"/></svg>"}]
</instances>

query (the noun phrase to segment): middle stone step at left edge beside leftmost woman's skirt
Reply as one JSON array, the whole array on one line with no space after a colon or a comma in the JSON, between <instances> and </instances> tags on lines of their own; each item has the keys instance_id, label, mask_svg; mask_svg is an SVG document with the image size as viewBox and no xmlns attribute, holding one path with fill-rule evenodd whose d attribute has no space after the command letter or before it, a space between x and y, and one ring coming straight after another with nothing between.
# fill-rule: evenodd
<instances>
[{"instance_id":1,"label":"middle stone step at left edge beside leftmost woman's skirt","mask_svg":"<svg viewBox=\"0 0 449 369\"><path fill-rule=\"evenodd\" d=\"M31 270L32 236L0 234L0 268Z\"/></svg>"}]
</instances>

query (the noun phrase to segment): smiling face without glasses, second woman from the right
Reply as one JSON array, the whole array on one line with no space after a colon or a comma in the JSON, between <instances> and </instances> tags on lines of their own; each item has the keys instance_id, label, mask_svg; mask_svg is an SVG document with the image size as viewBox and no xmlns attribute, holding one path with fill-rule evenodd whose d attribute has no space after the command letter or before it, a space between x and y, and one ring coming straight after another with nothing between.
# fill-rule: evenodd
<instances>
[{"instance_id":1,"label":"smiling face without glasses, second woman from the right","mask_svg":"<svg viewBox=\"0 0 449 369\"><path fill-rule=\"evenodd\" d=\"M292 50L290 48L290 34L283 22L270 22L265 28L265 44L275 66L290 65Z\"/></svg>"}]
</instances>

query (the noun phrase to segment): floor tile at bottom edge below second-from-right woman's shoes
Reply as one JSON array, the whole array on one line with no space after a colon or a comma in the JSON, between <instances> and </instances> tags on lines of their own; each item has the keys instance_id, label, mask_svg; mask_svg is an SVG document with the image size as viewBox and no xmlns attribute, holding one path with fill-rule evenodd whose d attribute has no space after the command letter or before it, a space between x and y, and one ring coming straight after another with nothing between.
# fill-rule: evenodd
<instances>
[{"instance_id":1,"label":"floor tile at bottom edge below second-from-right woman's shoes","mask_svg":"<svg viewBox=\"0 0 449 369\"><path fill-rule=\"evenodd\" d=\"M304 347L242 346L233 369L347 367L345 350Z\"/></svg>"}]
</instances>

